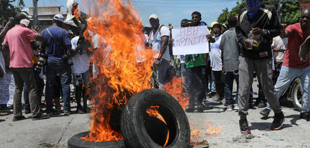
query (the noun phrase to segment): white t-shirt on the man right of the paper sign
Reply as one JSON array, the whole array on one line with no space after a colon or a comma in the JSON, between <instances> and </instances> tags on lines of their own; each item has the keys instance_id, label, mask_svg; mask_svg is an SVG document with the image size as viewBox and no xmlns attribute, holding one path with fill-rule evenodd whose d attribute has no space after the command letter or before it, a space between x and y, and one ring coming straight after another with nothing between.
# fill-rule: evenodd
<instances>
[{"instance_id":1,"label":"white t-shirt on the man right of the paper sign","mask_svg":"<svg viewBox=\"0 0 310 148\"><path fill-rule=\"evenodd\" d=\"M214 37L216 42L211 43L210 50L210 61L211 67L213 71L222 71L222 51L220 50L220 40L222 39L222 35Z\"/></svg>"}]
</instances>

